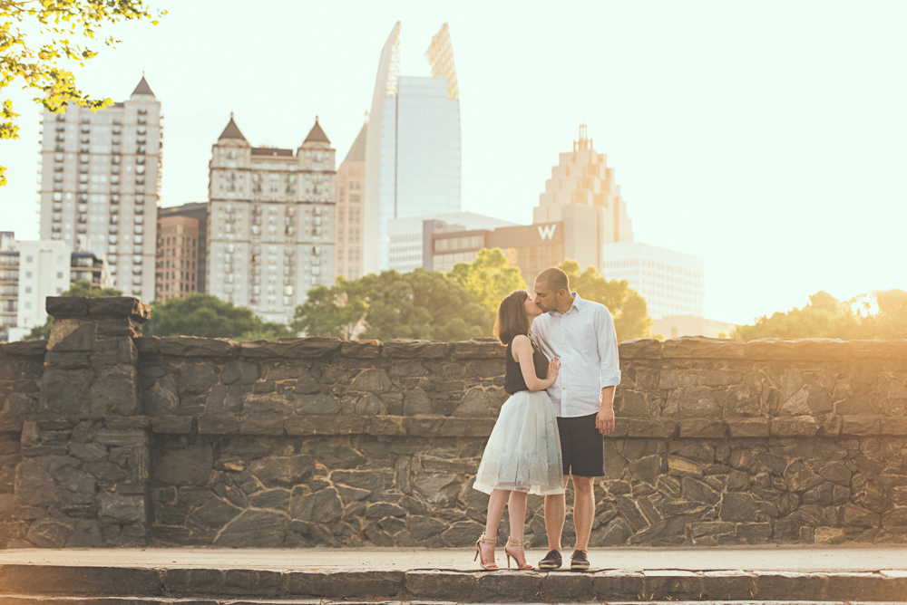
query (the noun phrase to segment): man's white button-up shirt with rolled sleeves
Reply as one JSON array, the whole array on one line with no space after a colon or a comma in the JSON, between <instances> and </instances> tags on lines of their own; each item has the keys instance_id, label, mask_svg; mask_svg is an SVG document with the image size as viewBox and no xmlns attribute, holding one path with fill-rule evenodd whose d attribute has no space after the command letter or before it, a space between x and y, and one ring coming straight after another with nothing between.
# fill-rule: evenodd
<instances>
[{"instance_id":1,"label":"man's white button-up shirt with rolled sleeves","mask_svg":"<svg viewBox=\"0 0 907 605\"><path fill-rule=\"evenodd\" d=\"M617 332L608 308L573 294L570 310L542 313L532 322L541 351L561 360L558 379L548 388L554 415L597 414L601 389L620 384Z\"/></svg>"}]
</instances>

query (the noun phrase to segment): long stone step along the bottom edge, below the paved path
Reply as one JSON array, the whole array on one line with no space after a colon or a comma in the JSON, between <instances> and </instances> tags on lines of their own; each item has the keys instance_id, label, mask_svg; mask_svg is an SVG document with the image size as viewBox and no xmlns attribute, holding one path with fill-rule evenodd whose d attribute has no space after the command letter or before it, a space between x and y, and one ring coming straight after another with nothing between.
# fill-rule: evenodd
<instances>
[{"instance_id":1,"label":"long stone step along the bottom edge, below the paved path","mask_svg":"<svg viewBox=\"0 0 907 605\"><path fill-rule=\"evenodd\" d=\"M34 597L119 599L97 601L104 605L135 602L142 598L206 604L249 599L312 603L340 599L347 602L509 603L593 600L635 603L664 600L894 602L907 600L907 571L270 571L42 564L0 566L0 605L7 600L13 603L13 599L27 598L29 602L35 602ZM47 601L36 602L44 604Z\"/></svg>"}]
</instances>

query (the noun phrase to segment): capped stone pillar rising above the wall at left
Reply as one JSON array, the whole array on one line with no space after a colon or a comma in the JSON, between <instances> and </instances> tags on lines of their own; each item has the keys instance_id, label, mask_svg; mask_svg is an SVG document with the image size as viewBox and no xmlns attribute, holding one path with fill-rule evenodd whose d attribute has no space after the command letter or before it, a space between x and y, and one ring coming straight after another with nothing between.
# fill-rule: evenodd
<instances>
[{"instance_id":1,"label":"capped stone pillar rising above the wall at left","mask_svg":"<svg viewBox=\"0 0 907 605\"><path fill-rule=\"evenodd\" d=\"M149 317L134 298L52 297L38 408L15 472L14 546L144 545L151 459L133 337Z\"/></svg>"}]
</instances>

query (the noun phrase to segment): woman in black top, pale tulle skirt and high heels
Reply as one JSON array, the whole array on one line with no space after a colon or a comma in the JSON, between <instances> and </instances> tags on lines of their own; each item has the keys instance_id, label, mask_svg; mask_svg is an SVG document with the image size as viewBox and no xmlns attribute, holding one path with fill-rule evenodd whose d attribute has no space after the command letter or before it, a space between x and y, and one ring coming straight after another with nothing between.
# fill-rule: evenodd
<instances>
[{"instance_id":1,"label":"woman in black top, pale tulle skirt and high heels","mask_svg":"<svg viewBox=\"0 0 907 605\"><path fill-rule=\"evenodd\" d=\"M544 356L529 335L532 320L541 309L525 290L508 294L498 307L494 331L507 345L504 389L511 398L504 402L482 455L473 487L490 494L485 531L475 543L475 558L485 570L496 570L494 542L498 523L507 504L511 535L504 547L507 566L511 557L520 569L526 564L523 524L526 496L562 494L561 438L545 389L558 377L559 360ZM540 378L544 376L544 378Z\"/></svg>"}]
</instances>

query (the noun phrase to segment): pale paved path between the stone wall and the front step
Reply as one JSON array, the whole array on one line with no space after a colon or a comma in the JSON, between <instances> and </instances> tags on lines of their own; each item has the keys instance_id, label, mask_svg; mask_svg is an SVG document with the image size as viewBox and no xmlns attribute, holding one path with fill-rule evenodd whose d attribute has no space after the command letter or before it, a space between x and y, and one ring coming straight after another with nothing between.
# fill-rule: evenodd
<instances>
[{"instance_id":1,"label":"pale paved path between the stone wall and the front step","mask_svg":"<svg viewBox=\"0 0 907 605\"><path fill-rule=\"evenodd\" d=\"M464 549L15 549L0 550L0 565L87 565L141 568L258 570L470 570L473 551ZM543 551L530 551L535 564ZM566 553L569 559L569 552ZM506 567L498 549L497 562ZM590 551L593 569L880 571L907 573L907 547L747 547L709 549L620 548Z\"/></svg>"}]
</instances>

